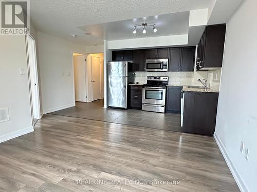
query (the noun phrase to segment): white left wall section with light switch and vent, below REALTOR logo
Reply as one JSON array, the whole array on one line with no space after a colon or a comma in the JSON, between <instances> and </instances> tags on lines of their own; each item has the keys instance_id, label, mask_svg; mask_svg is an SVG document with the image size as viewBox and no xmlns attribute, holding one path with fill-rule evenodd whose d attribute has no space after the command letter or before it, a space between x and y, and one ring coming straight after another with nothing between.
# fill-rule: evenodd
<instances>
[{"instance_id":1,"label":"white left wall section with light switch and vent, below REALTOR logo","mask_svg":"<svg viewBox=\"0 0 257 192\"><path fill-rule=\"evenodd\" d=\"M0 142L33 131L25 36L0 36L0 108L10 120L0 123ZM19 75L19 69L25 75Z\"/></svg>"}]
</instances>

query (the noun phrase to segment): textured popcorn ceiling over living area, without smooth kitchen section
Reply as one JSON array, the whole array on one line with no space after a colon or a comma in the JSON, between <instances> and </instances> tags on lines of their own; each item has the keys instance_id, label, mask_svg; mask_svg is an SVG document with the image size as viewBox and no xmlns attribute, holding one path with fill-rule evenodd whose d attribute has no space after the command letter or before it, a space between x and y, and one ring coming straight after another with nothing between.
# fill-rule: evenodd
<instances>
[{"instance_id":1,"label":"textured popcorn ceiling over living area, without smooth kitchen section","mask_svg":"<svg viewBox=\"0 0 257 192\"><path fill-rule=\"evenodd\" d=\"M216 16L211 16L210 19L215 23L218 23L218 16L226 20L238 7L238 2L242 1L217 0L218 7L213 8L216 10ZM233 8L225 17L222 16L226 11L222 2L226 2L225 5L233 4ZM214 4L215 0L31 0L30 16L39 31L78 44L102 45L101 38L85 35L85 31L78 27L195 9L212 9ZM77 34L77 37L71 37L71 34Z\"/></svg>"}]
</instances>

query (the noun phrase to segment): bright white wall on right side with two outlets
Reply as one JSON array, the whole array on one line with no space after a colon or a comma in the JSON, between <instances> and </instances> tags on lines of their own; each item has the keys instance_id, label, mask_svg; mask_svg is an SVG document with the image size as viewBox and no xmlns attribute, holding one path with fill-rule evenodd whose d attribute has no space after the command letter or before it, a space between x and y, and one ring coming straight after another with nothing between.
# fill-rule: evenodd
<instances>
[{"instance_id":1,"label":"bright white wall on right side with two outlets","mask_svg":"<svg viewBox=\"0 0 257 192\"><path fill-rule=\"evenodd\" d=\"M242 191L257 190L257 1L247 0L227 24L215 137ZM249 149L246 161L240 142Z\"/></svg>"}]
</instances>

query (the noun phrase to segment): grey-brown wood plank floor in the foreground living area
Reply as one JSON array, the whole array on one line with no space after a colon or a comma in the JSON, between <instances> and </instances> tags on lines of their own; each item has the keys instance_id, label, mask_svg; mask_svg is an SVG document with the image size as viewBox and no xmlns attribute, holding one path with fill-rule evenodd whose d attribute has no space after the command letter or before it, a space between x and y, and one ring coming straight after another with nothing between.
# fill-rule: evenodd
<instances>
[{"instance_id":1,"label":"grey-brown wood plank floor in the foreground living area","mask_svg":"<svg viewBox=\"0 0 257 192\"><path fill-rule=\"evenodd\" d=\"M0 173L0 191L240 191L212 137L60 115L0 143Z\"/></svg>"}]
</instances>

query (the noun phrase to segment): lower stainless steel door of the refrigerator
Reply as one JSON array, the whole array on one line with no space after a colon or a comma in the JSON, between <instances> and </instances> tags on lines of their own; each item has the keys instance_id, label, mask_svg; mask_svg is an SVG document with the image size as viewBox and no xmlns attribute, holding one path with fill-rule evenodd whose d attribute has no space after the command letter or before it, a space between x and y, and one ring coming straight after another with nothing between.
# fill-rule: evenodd
<instances>
[{"instance_id":1,"label":"lower stainless steel door of the refrigerator","mask_svg":"<svg viewBox=\"0 0 257 192\"><path fill-rule=\"evenodd\" d=\"M127 108L127 77L108 77L108 105Z\"/></svg>"}]
</instances>

